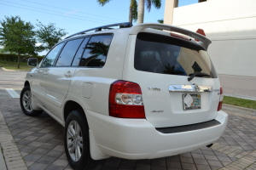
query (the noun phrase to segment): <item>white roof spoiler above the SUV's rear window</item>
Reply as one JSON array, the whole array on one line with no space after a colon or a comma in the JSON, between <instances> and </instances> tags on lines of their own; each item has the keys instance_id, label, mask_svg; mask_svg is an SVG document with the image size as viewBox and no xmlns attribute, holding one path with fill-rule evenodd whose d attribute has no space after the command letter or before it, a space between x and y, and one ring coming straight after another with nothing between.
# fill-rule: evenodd
<instances>
[{"instance_id":1,"label":"white roof spoiler above the SUV's rear window","mask_svg":"<svg viewBox=\"0 0 256 170\"><path fill-rule=\"evenodd\" d=\"M210 39L208 39L205 36L202 36L199 33L196 33L194 31L189 31L177 26L170 26L166 24L156 24L156 23L145 23L145 24L139 24L137 26L132 26L130 34L131 35L137 35L139 31L142 31L146 28L154 28L154 29L160 29L160 30L166 30L166 31L174 31L177 33L181 33L183 35L189 36L189 37L194 37L195 39L199 40L201 43L201 46L204 47L205 49L208 48L209 44L212 43Z\"/></svg>"}]
</instances>

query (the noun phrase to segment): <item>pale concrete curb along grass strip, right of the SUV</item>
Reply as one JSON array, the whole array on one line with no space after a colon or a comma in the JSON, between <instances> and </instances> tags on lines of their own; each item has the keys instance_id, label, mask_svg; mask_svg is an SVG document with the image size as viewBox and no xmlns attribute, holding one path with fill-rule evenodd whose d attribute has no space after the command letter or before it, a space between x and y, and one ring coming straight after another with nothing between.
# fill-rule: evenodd
<instances>
[{"instance_id":1,"label":"pale concrete curb along grass strip, right of the SUV","mask_svg":"<svg viewBox=\"0 0 256 170\"><path fill-rule=\"evenodd\" d=\"M256 110L254 110L254 109L248 109L245 107L240 107L240 106L236 106L236 105L227 105L227 104L223 104L222 109L224 111L230 111L232 113L236 113L236 114L242 115L242 116L256 117Z\"/></svg>"}]
</instances>

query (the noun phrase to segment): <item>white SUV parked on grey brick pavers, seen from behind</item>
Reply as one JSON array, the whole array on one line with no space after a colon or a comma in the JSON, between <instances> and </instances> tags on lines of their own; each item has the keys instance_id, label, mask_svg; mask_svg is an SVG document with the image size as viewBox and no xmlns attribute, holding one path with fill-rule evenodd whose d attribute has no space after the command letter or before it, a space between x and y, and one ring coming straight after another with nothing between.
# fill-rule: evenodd
<instances>
[{"instance_id":1,"label":"white SUV parked on grey brick pavers, seen from behind","mask_svg":"<svg viewBox=\"0 0 256 170\"><path fill-rule=\"evenodd\" d=\"M81 31L39 65L29 59L36 67L27 73L21 108L28 116L45 111L65 127L74 169L109 156L154 159L210 146L228 121L210 43L153 23Z\"/></svg>"}]
</instances>

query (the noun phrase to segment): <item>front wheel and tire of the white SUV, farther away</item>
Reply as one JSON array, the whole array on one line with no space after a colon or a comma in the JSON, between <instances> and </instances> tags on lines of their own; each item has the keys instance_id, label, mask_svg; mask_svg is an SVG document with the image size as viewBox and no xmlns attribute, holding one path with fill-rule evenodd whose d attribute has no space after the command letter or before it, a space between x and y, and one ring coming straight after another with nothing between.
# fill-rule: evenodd
<instances>
[{"instance_id":1,"label":"front wheel and tire of the white SUV, farther away","mask_svg":"<svg viewBox=\"0 0 256 170\"><path fill-rule=\"evenodd\" d=\"M22 89L20 93L20 107L27 116L39 116L43 111L34 111L32 109L32 94L29 86Z\"/></svg>"}]
</instances>

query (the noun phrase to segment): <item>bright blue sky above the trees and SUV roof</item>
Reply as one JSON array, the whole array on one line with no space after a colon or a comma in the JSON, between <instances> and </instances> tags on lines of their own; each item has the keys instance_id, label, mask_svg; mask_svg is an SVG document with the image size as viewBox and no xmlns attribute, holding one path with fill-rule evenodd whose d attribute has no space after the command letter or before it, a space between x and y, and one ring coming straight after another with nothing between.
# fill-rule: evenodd
<instances>
[{"instance_id":1,"label":"bright blue sky above the trees and SUV roof","mask_svg":"<svg viewBox=\"0 0 256 170\"><path fill-rule=\"evenodd\" d=\"M112 0L102 7L96 0L0 0L0 20L4 20L4 16L19 15L21 20L29 21L34 26L38 21L44 25L55 23L57 28L65 29L68 35L72 35L97 26L128 21L129 2ZM179 0L179 6L197 2ZM162 20L165 3L166 0L162 0L160 9L152 7L149 13L145 11L144 23Z\"/></svg>"}]
</instances>

